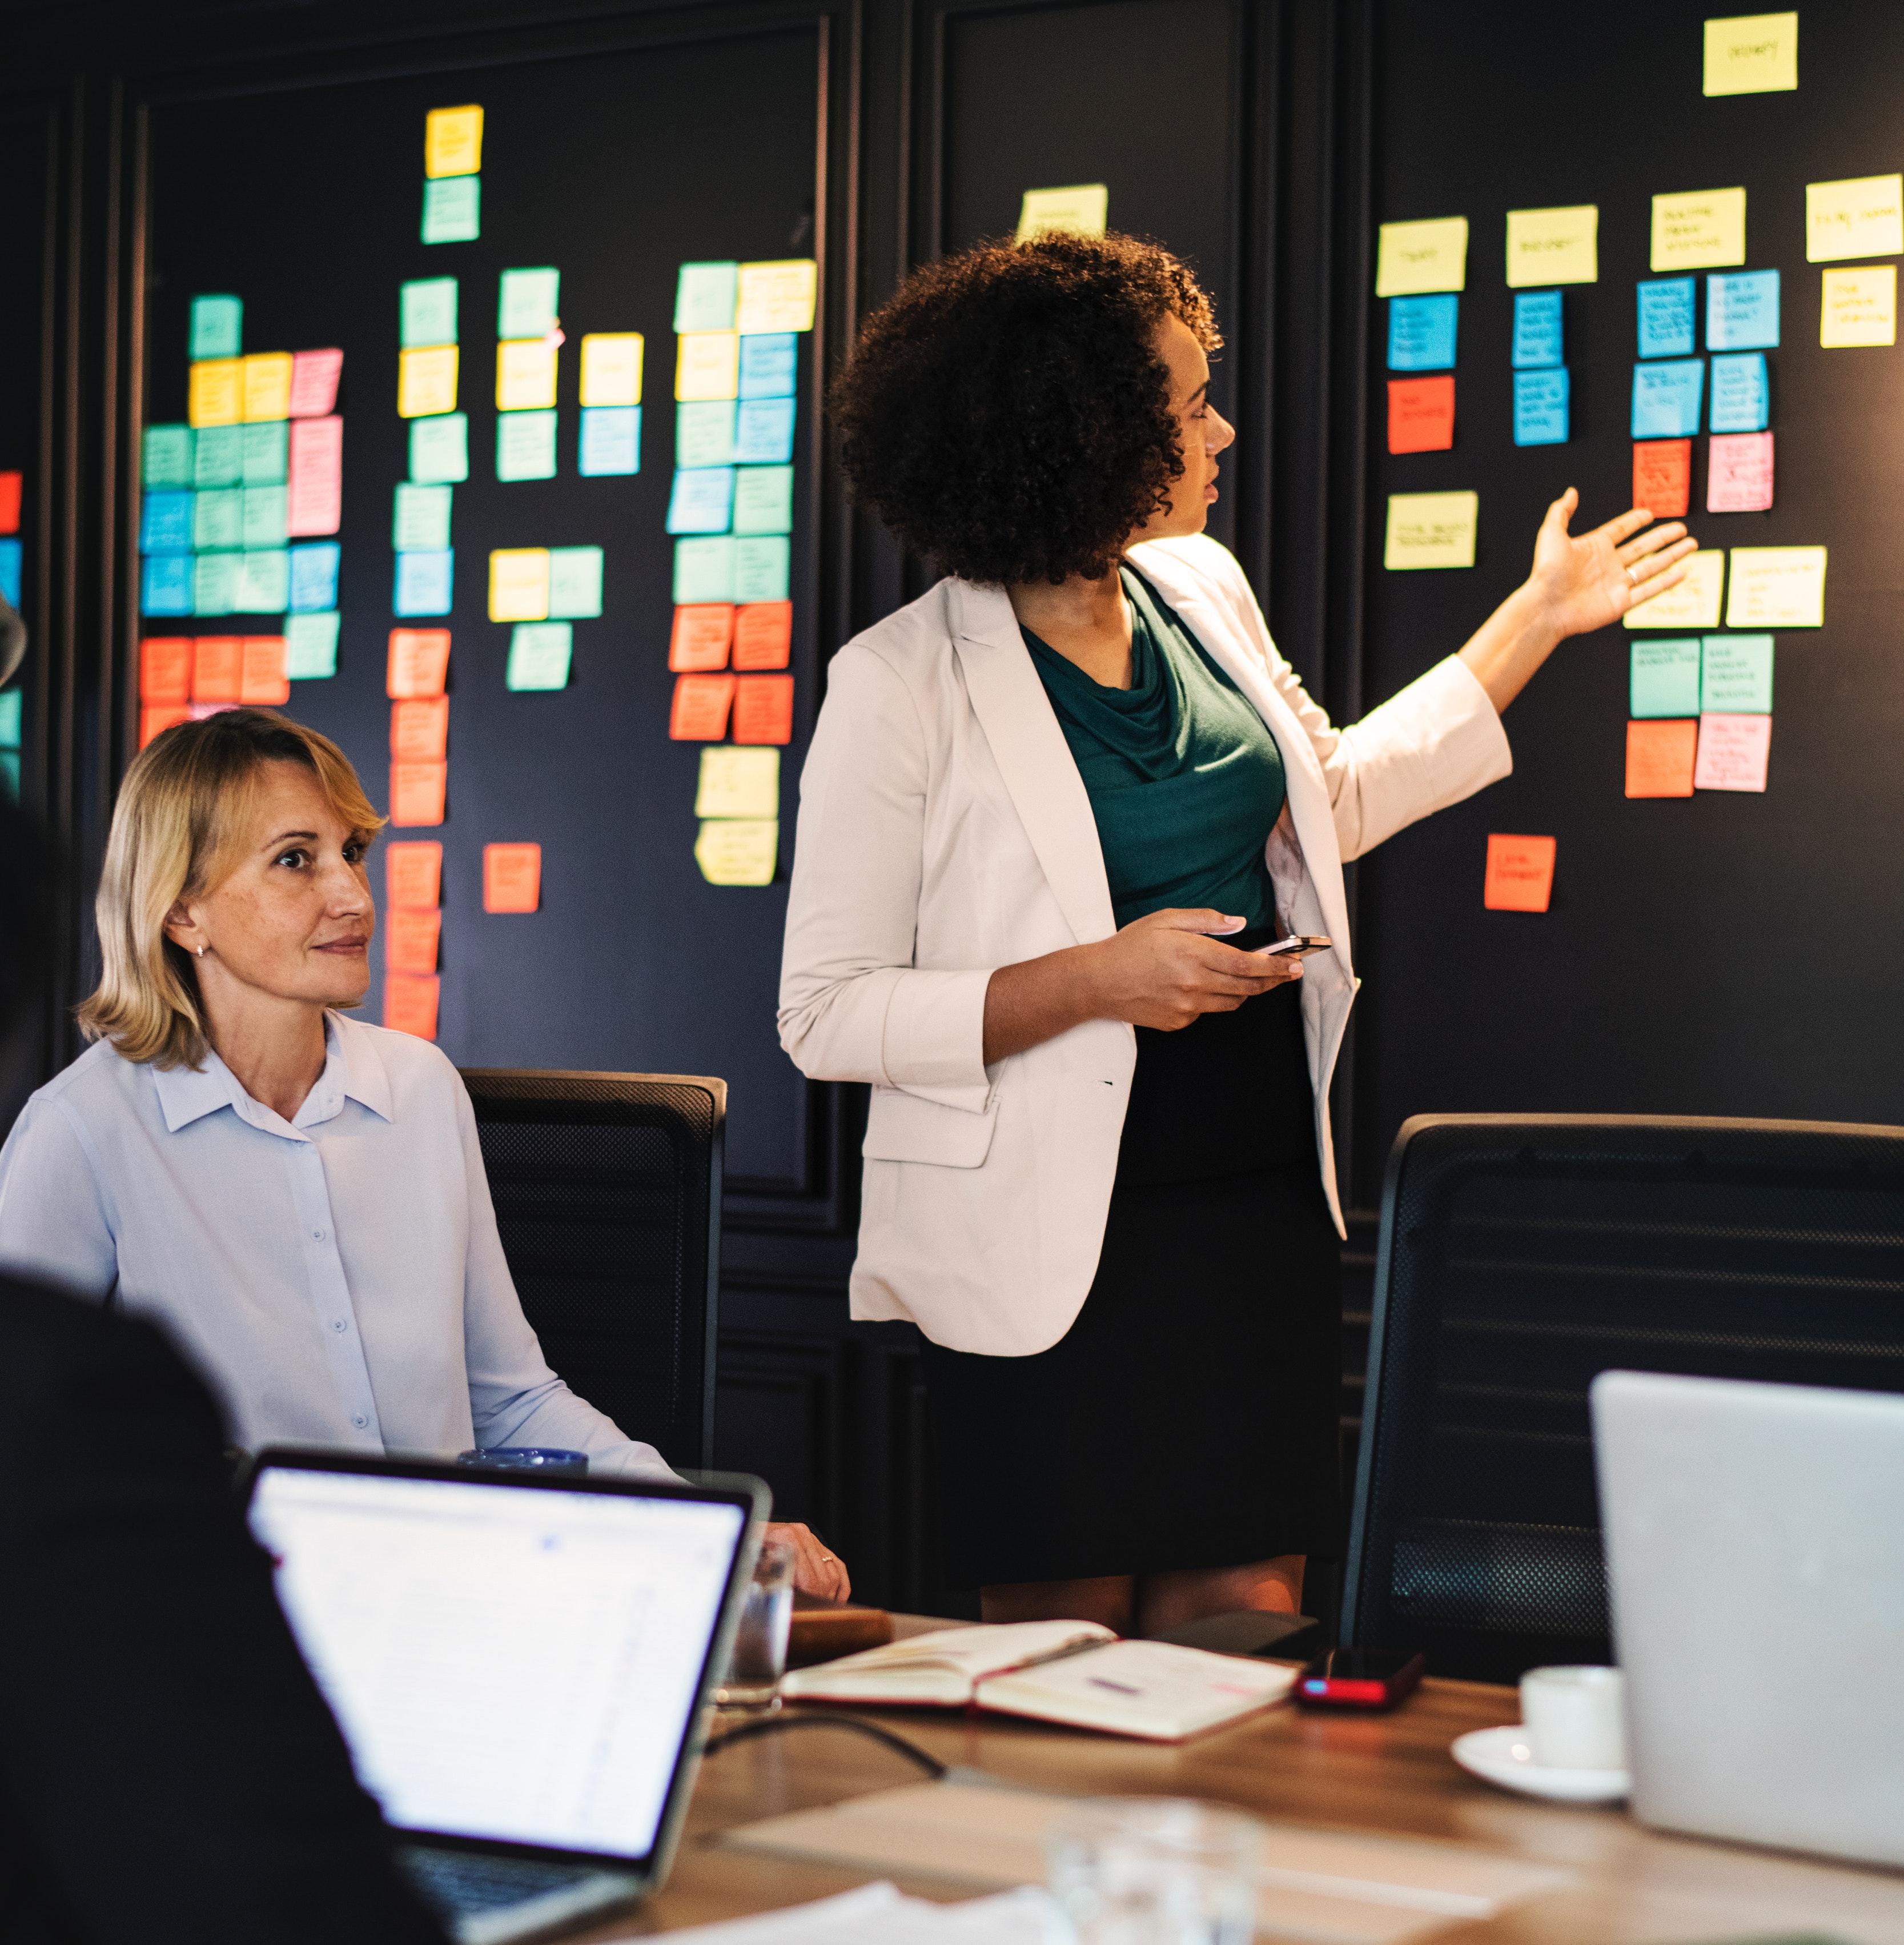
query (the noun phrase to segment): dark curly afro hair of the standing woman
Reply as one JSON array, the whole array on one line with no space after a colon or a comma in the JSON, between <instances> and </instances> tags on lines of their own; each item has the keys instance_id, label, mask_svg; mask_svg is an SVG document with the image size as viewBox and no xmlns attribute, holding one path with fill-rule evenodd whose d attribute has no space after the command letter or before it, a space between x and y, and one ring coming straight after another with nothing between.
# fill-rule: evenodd
<instances>
[{"instance_id":1,"label":"dark curly afro hair of the standing woman","mask_svg":"<svg viewBox=\"0 0 1904 1945\"><path fill-rule=\"evenodd\" d=\"M1107 574L1182 477L1167 315L1204 350L1210 298L1136 237L980 243L916 270L834 379L854 498L969 582Z\"/></svg>"}]
</instances>

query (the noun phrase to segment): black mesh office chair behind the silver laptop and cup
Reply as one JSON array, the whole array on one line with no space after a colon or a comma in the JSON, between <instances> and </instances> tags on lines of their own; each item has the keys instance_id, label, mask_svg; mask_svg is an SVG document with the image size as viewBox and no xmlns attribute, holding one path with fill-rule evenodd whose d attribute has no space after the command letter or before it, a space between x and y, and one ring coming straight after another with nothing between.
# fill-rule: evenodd
<instances>
[{"instance_id":1,"label":"black mesh office chair behind the silver laptop and cup","mask_svg":"<svg viewBox=\"0 0 1904 1945\"><path fill-rule=\"evenodd\" d=\"M1342 1638L1610 1661L1587 1385L1904 1391L1904 1128L1422 1114L1383 1186Z\"/></svg>"}]
</instances>

